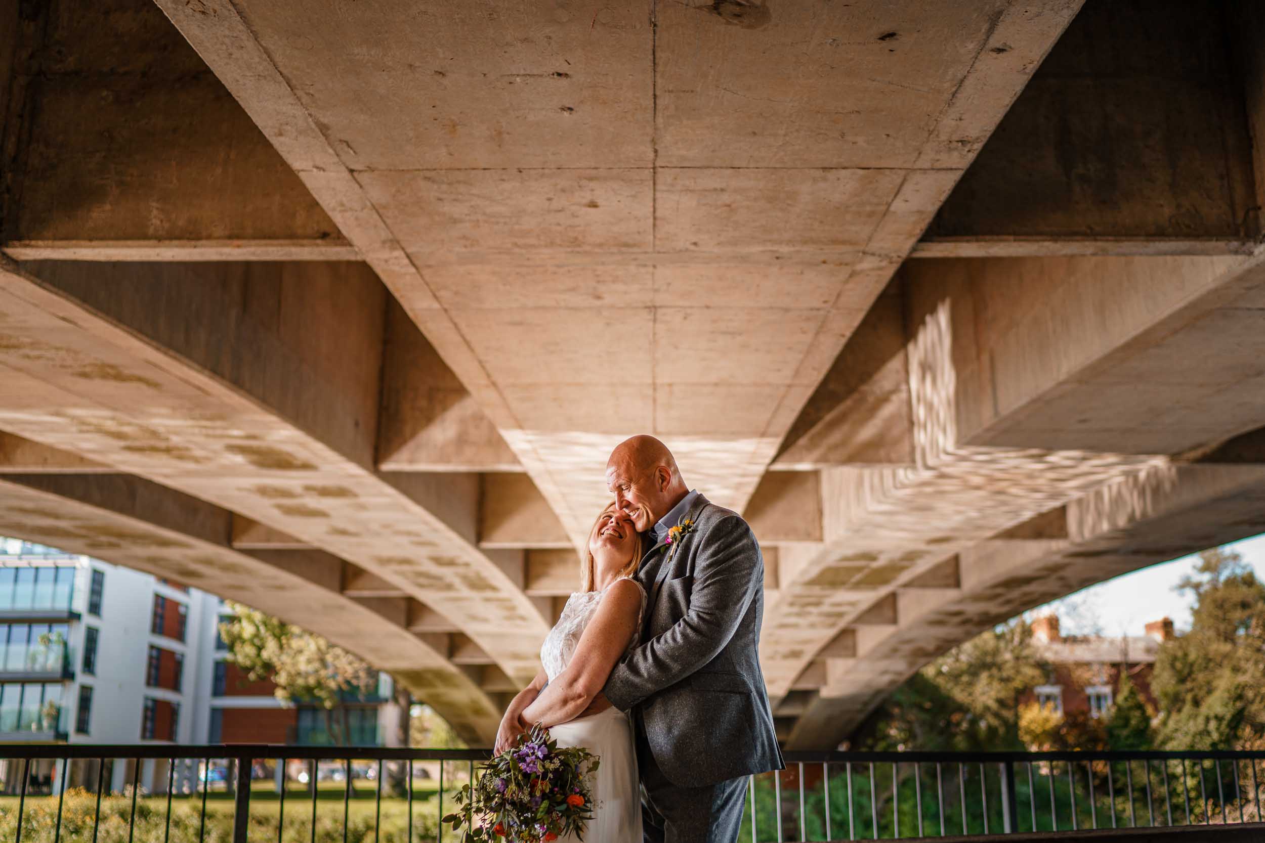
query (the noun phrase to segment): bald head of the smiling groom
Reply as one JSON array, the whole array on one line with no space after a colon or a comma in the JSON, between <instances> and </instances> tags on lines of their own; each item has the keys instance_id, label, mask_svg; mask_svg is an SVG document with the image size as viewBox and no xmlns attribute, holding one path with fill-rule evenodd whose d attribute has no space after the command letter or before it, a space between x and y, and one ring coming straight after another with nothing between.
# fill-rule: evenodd
<instances>
[{"instance_id":1,"label":"bald head of the smiling groom","mask_svg":"<svg viewBox=\"0 0 1265 843\"><path fill-rule=\"evenodd\" d=\"M606 484L638 532L653 527L689 492L672 451L654 436L620 442L606 461Z\"/></svg>"}]
</instances>

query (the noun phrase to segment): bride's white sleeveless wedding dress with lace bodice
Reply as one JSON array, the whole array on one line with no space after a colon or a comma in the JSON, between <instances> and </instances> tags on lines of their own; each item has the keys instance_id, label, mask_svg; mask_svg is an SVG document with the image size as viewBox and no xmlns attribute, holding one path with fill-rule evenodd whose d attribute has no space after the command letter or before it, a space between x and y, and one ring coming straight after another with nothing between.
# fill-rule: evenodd
<instances>
[{"instance_id":1,"label":"bride's white sleeveless wedding dress with lace bodice","mask_svg":"<svg viewBox=\"0 0 1265 843\"><path fill-rule=\"evenodd\" d=\"M645 614L645 589L640 583L638 588L641 589L641 610L638 613L638 631L632 633L629 650L640 641L641 617ZM567 599L562 617L540 647L540 661L550 682L571 664L579 636L605 593L606 589L576 591ZM629 715L611 707L589 717L559 723L550 727L549 732L558 746L584 747L601 761L593 782L593 819L584 830L584 843L641 843L641 796ZM572 839L574 838L565 837L560 843Z\"/></svg>"}]
</instances>

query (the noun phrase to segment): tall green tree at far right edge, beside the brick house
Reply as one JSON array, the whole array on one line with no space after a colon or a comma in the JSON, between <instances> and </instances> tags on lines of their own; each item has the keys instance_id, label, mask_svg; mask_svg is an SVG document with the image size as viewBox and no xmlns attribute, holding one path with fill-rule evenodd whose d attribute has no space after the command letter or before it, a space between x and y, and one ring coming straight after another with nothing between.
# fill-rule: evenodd
<instances>
[{"instance_id":1,"label":"tall green tree at far right edge, beside the brick house","mask_svg":"<svg viewBox=\"0 0 1265 843\"><path fill-rule=\"evenodd\" d=\"M1213 549L1178 588L1195 604L1190 631L1165 642L1155 662L1160 746L1265 746L1265 585L1238 554Z\"/></svg>"}]
</instances>

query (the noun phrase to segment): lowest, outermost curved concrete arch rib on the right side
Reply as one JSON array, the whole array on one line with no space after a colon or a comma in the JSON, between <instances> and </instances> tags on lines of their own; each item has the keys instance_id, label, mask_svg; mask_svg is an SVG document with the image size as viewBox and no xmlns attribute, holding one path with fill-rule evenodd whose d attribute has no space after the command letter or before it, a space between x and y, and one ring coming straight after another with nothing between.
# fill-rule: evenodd
<instances>
[{"instance_id":1,"label":"lowest, outermost curved concrete arch rib on the right side","mask_svg":"<svg viewBox=\"0 0 1265 843\"><path fill-rule=\"evenodd\" d=\"M856 658L827 671L788 746L839 743L927 661L1034 605L1259 533L1262 503L1265 460L1173 464L1104 484L979 542L959 555L960 589L922 591L917 617L902 612L899 627L859 643Z\"/></svg>"}]
</instances>

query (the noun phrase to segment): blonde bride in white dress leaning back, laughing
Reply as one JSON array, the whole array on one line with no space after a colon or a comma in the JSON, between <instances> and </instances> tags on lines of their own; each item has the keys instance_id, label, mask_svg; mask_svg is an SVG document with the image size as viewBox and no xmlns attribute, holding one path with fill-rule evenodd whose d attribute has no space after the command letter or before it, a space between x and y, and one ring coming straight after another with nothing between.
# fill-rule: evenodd
<instances>
[{"instance_id":1,"label":"blonde bride in white dress leaning back, laughing","mask_svg":"<svg viewBox=\"0 0 1265 843\"><path fill-rule=\"evenodd\" d=\"M567 600L540 647L544 669L510 703L496 736L501 752L520 732L541 723L558 746L598 756L593 819L584 832L595 843L641 843L632 724L605 696L591 707L615 664L639 643L645 590L632 575L640 559L632 521L611 503L588 533L581 590Z\"/></svg>"}]
</instances>

